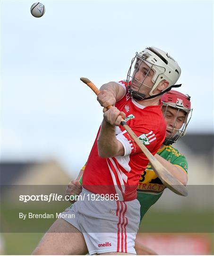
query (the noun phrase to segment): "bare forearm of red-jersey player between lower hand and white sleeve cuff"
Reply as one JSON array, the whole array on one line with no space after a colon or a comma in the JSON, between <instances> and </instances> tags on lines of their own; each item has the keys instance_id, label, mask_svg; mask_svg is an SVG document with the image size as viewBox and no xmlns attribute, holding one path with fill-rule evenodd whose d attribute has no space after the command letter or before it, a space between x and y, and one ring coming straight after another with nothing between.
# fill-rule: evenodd
<instances>
[{"instance_id":1,"label":"bare forearm of red-jersey player between lower hand and white sleeve cuff","mask_svg":"<svg viewBox=\"0 0 214 256\"><path fill-rule=\"evenodd\" d=\"M100 157L113 157L120 154L119 144L115 135L115 126L103 120L97 139L98 154Z\"/></svg>"}]
</instances>

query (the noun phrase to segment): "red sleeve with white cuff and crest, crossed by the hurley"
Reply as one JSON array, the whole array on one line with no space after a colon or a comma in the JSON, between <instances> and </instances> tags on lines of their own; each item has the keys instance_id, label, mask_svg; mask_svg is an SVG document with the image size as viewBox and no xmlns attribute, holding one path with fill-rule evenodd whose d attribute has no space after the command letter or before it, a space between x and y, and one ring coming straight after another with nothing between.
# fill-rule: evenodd
<instances>
[{"instance_id":1,"label":"red sleeve with white cuff and crest, crossed by the hurley","mask_svg":"<svg viewBox=\"0 0 214 256\"><path fill-rule=\"evenodd\" d=\"M135 128L132 128L132 130L137 135L142 144L144 144L148 148L149 151L152 151L154 149L157 142L153 131L146 128L143 132L140 132L138 129ZM122 131L116 137L117 140L119 140L124 147L124 156L142 153L140 147L136 144L134 139L128 134L126 130Z\"/></svg>"}]
</instances>

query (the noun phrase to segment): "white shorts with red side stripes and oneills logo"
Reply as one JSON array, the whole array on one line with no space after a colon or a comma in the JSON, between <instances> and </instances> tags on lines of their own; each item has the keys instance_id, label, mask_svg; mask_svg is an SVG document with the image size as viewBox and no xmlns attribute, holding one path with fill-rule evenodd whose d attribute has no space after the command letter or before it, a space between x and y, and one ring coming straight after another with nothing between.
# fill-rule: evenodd
<instances>
[{"instance_id":1,"label":"white shorts with red side stripes and oneills logo","mask_svg":"<svg viewBox=\"0 0 214 256\"><path fill-rule=\"evenodd\" d=\"M133 201L94 201L94 194L83 188L84 200L76 201L61 214L80 232L90 255L107 252L136 254L135 238L140 223L140 203ZM88 196L87 196L88 195Z\"/></svg>"}]
</instances>

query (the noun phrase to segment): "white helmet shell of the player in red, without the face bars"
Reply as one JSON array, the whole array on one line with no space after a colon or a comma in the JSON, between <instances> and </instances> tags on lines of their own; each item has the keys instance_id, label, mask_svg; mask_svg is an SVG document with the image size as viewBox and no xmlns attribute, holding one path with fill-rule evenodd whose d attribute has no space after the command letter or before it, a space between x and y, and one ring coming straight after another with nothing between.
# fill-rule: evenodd
<instances>
[{"instance_id":1,"label":"white helmet shell of the player in red, without the face bars","mask_svg":"<svg viewBox=\"0 0 214 256\"><path fill-rule=\"evenodd\" d=\"M150 96L155 95L153 92L159 82L167 80L169 82L169 86L167 88L169 88L171 85L174 85L180 77L180 66L168 53L165 53L156 47L147 47L145 50L136 53L136 56L132 59L127 76L128 81L133 81L135 76L135 73L133 76L131 75L131 67L135 59L142 60L154 71L152 78L154 85L150 88ZM141 99L144 99L144 97L141 96Z\"/></svg>"}]
</instances>

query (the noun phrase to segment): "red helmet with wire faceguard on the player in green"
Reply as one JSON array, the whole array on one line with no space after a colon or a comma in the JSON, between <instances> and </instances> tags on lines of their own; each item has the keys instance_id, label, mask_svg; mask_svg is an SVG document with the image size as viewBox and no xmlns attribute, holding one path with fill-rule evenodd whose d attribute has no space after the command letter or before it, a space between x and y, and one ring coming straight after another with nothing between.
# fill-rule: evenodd
<instances>
[{"instance_id":1,"label":"red helmet with wire faceguard on the player in green","mask_svg":"<svg viewBox=\"0 0 214 256\"><path fill-rule=\"evenodd\" d=\"M177 113L174 118L172 126L166 127L166 130L170 131L171 134L167 135L163 144L170 145L170 144L177 142L182 136L184 136L186 134L186 129L187 129L189 120L192 117L190 97L188 95L184 95L183 93L180 93L179 91L171 90L171 91L163 94L161 101L162 101L163 106L166 107L163 112L164 117L166 117L167 110L169 110L169 108L174 108L177 110ZM175 128L175 124L176 124L176 121L177 121L180 111L186 112L186 116L185 116L182 126L179 129L177 129L177 128ZM175 133L175 131L176 131L176 133Z\"/></svg>"}]
</instances>

